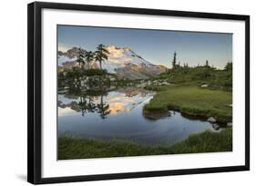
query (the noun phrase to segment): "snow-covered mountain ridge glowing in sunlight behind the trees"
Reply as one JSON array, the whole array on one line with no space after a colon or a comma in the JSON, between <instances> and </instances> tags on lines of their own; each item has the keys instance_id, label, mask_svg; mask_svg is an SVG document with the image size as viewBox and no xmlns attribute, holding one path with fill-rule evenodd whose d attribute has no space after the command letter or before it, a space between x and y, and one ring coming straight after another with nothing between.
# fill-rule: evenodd
<instances>
[{"instance_id":1,"label":"snow-covered mountain ridge glowing in sunlight behind the trees","mask_svg":"<svg viewBox=\"0 0 256 186\"><path fill-rule=\"evenodd\" d=\"M159 73L164 72L167 67L164 65L152 64L145 60L140 55L136 54L129 47L117 47L108 45L105 47L108 50L108 60L102 61L102 68L108 73L117 73L118 76L128 79L147 79L154 77ZM73 47L67 50L66 53L58 51L58 65L63 68L71 68L78 66L76 60L79 54L79 49ZM92 68L99 68L96 61L90 64ZM87 69L87 64L85 65Z\"/></svg>"}]
</instances>

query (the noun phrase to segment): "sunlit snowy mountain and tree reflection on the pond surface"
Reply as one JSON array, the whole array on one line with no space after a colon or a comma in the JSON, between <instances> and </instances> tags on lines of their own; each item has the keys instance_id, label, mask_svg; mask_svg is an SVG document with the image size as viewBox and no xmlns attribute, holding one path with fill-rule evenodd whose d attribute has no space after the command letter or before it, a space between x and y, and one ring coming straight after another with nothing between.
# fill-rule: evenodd
<instances>
[{"instance_id":1,"label":"sunlit snowy mountain and tree reflection on the pond surface","mask_svg":"<svg viewBox=\"0 0 256 186\"><path fill-rule=\"evenodd\" d=\"M81 113L99 113L102 119L108 114L131 112L138 104L152 98L153 93L146 90L122 90L122 92L103 93L98 96L81 93L77 95L58 95L58 115L64 116L72 111Z\"/></svg>"}]
</instances>

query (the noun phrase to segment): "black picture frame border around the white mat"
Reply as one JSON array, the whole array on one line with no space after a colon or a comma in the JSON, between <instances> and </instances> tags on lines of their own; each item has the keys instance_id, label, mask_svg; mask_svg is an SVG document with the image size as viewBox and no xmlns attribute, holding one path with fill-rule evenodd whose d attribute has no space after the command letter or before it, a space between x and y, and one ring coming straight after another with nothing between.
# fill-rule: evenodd
<instances>
[{"instance_id":1,"label":"black picture frame border around the white mat","mask_svg":"<svg viewBox=\"0 0 256 186\"><path fill-rule=\"evenodd\" d=\"M200 169L143 171L97 175L42 178L42 74L41 32L42 9L78 10L92 12L125 13L137 15L164 15L209 19L240 20L245 22L245 164L240 166L209 167ZM199 12L142 9L130 7L75 5L35 2L27 6L27 181L34 184L69 181L99 181L140 177L169 176L180 174L210 173L250 170L250 16Z\"/></svg>"}]
</instances>

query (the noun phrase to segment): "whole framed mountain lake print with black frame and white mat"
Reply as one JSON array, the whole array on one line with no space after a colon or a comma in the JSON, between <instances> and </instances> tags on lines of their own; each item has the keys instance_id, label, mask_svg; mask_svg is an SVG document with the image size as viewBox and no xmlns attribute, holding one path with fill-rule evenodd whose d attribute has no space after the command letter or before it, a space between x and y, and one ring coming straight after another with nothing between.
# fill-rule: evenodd
<instances>
[{"instance_id":1,"label":"whole framed mountain lake print with black frame and white mat","mask_svg":"<svg viewBox=\"0 0 256 186\"><path fill-rule=\"evenodd\" d=\"M28 5L28 181L250 169L250 16Z\"/></svg>"}]
</instances>

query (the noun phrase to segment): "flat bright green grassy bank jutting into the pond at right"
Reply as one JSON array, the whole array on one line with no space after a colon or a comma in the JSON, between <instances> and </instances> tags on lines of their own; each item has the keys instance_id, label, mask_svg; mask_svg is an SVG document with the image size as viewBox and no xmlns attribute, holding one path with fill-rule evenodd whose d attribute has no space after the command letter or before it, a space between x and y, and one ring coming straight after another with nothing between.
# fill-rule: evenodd
<instances>
[{"instance_id":1,"label":"flat bright green grassy bank jutting into the pond at right","mask_svg":"<svg viewBox=\"0 0 256 186\"><path fill-rule=\"evenodd\" d=\"M212 116L219 122L232 121L231 92L179 85L164 86L162 90L144 106L144 113L172 109L193 116Z\"/></svg>"}]
</instances>

